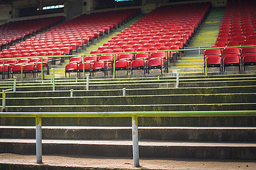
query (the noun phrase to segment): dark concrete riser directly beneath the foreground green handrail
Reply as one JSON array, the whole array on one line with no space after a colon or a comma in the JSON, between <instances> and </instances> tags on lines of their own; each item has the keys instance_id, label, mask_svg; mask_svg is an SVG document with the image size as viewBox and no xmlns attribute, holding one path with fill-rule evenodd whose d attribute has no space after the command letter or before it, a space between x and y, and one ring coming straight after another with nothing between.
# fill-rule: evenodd
<instances>
[{"instance_id":1,"label":"dark concrete riser directly beneath the foreground green handrail","mask_svg":"<svg viewBox=\"0 0 256 170\"><path fill-rule=\"evenodd\" d=\"M1 117L5 126L35 126L35 118ZM43 126L131 126L130 117L42 118ZM139 126L255 126L256 117L139 117Z\"/></svg>"}]
</instances>

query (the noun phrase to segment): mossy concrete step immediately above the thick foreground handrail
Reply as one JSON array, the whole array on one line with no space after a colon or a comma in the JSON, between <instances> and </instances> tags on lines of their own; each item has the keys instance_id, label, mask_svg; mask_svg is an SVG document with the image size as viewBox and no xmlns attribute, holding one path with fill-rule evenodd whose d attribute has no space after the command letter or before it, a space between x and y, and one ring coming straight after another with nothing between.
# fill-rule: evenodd
<instances>
[{"instance_id":1,"label":"mossy concrete step immediately above the thick foreground handrail","mask_svg":"<svg viewBox=\"0 0 256 170\"><path fill-rule=\"evenodd\" d=\"M1 107L0 107L1 108ZM6 112L253 111L256 103L7 106Z\"/></svg>"}]
</instances>

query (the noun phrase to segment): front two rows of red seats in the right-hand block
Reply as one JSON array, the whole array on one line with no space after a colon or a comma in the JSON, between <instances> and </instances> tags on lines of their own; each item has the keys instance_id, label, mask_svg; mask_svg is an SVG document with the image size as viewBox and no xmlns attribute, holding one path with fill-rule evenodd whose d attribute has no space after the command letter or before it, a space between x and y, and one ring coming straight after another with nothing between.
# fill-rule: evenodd
<instances>
[{"instance_id":1,"label":"front two rows of red seats in the right-hand block","mask_svg":"<svg viewBox=\"0 0 256 170\"><path fill-rule=\"evenodd\" d=\"M207 49L204 56L208 67L220 67L220 71L225 71L226 66L238 66L239 70L245 70L246 65L256 65L256 47Z\"/></svg>"}]
</instances>

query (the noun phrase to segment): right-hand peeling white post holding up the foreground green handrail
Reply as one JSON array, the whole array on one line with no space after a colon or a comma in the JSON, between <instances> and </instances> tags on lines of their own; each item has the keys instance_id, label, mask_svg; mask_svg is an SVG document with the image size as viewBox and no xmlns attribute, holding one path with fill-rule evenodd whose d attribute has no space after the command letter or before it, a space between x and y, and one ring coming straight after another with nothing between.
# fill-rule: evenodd
<instances>
[{"instance_id":1,"label":"right-hand peeling white post holding up the foreground green handrail","mask_svg":"<svg viewBox=\"0 0 256 170\"><path fill-rule=\"evenodd\" d=\"M133 165L139 167L139 135L138 135L138 117L132 117L132 135L133 135Z\"/></svg>"}]
</instances>

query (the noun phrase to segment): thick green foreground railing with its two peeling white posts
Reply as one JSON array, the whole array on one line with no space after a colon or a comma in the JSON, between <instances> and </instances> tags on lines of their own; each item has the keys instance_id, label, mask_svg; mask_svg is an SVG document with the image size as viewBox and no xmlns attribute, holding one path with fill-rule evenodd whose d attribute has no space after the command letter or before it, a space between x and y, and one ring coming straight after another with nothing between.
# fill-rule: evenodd
<instances>
[{"instance_id":1,"label":"thick green foreground railing with its two peeling white posts","mask_svg":"<svg viewBox=\"0 0 256 170\"><path fill-rule=\"evenodd\" d=\"M35 117L36 163L42 163L42 117L131 117L134 167L139 166L138 117L244 117L256 111L187 111L187 112L0 112L0 117ZM85 153L86 154L86 153Z\"/></svg>"}]
</instances>

